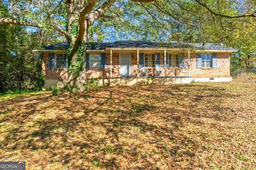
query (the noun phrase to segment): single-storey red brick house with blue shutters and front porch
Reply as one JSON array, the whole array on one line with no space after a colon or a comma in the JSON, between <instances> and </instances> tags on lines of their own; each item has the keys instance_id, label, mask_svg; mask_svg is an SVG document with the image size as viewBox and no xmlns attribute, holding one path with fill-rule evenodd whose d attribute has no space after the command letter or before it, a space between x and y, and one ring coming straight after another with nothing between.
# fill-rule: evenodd
<instances>
[{"instance_id":1,"label":"single-storey red brick house with blue shutters and front porch","mask_svg":"<svg viewBox=\"0 0 256 170\"><path fill-rule=\"evenodd\" d=\"M68 79L67 43L35 50L42 53L45 88ZM86 47L86 77L105 85L230 81L230 53L236 49L206 43L115 41Z\"/></svg>"}]
</instances>

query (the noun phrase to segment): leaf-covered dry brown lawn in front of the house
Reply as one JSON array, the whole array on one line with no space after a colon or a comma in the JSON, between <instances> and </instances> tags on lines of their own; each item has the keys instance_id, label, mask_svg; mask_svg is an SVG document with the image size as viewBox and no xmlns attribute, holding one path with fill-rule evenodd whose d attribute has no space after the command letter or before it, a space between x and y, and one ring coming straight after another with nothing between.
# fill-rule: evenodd
<instances>
[{"instance_id":1,"label":"leaf-covered dry brown lawn in front of the house","mask_svg":"<svg viewBox=\"0 0 256 170\"><path fill-rule=\"evenodd\" d=\"M27 169L256 169L255 75L0 96L0 161Z\"/></svg>"}]
</instances>

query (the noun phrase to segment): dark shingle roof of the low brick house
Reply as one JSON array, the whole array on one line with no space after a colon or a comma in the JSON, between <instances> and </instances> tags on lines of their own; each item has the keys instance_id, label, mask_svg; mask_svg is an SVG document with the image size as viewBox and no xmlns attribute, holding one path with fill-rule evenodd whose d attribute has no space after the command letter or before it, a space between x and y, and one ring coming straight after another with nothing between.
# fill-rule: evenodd
<instances>
[{"instance_id":1,"label":"dark shingle roof of the low brick house","mask_svg":"<svg viewBox=\"0 0 256 170\"><path fill-rule=\"evenodd\" d=\"M171 41L170 43L154 42L154 41L115 41L113 43L88 43L86 49L106 49L106 48L128 48L128 49L195 49L195 50L220 50L220 51L236 51L231 47L226 47L221 44L214 43L183 43L178 41ZM57 43L46 46L46 50L61 50L68 49L68 43Z\"/></svg>"}]
</instances>

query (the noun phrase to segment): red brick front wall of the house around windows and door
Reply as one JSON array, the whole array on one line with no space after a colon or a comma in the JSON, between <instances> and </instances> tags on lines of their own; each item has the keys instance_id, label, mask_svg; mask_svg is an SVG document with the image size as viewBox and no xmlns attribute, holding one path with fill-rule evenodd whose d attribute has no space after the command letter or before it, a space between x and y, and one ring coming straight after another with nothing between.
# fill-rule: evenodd
<instances>
[{"instance_id":1,"label":"red brick front wall of the house around windows and door","mask_svg":"<svg viewBox=\"0 0 256 170\"><path fill-rule=\"evenodd\" d=\"M132 76L138 76L137 53L131 53ZM192 78L226 78L230 77L230 54L218 53L218 68L196 68L196 53L190 53L190 76ZM164 54L161 54L161 66ZM185 53L185 68L166 68L162 70L162 76L188 76L188 53ZM48 69L48 53L44 53L42 71L48 80L67 79L67 69ZM112 53L112 77L120 77L119 53ZM110 77L110 53L106 53L106 69L90 68L86 70L87 78L109 78ZM166 74L165 74L166 72Z\"/></svg>"}]
</instances>

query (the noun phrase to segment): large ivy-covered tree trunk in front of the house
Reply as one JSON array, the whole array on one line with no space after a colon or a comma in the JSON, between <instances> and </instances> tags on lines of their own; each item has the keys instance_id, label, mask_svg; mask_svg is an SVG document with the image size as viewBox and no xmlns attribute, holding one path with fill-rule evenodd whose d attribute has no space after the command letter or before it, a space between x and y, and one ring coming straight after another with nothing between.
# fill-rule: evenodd
<instances>
[{"instance_id":1,"label":"large ivy-covered tree trunk in front of the house","mask_svg":"<svg viewBox=\"0 0 256 170\"><path fill-rule=\"evenodd\" d=\"M68 61L70 62L68 64L67 87L73 92L83 92L86 85L86 40L88 29L115 1L109 0L104 2L95 11L92 11L96 3L94 0L86 4L84 4L84 1L80 1L80 6L85 8L74 8L73 0L66 1L68 6L68 39L70 46L68 52ZM71 12L73 15L70 14ZM88 15L88 13L90 14Z\"/></svg>"}]
</instances>

